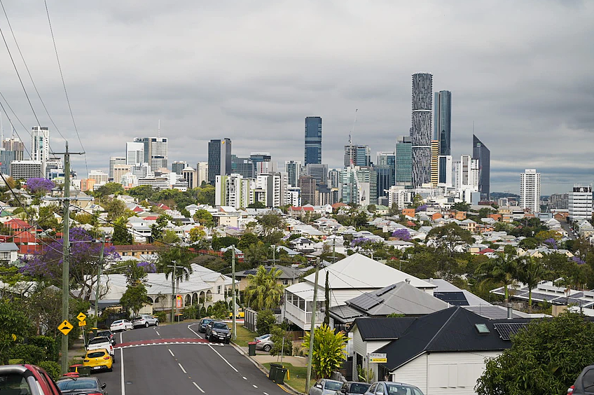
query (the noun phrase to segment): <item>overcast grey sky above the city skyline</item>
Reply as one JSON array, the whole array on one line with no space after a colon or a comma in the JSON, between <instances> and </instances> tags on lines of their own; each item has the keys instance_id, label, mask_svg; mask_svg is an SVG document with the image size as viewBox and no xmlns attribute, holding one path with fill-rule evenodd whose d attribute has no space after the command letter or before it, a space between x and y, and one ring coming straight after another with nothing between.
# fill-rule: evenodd
<instances>
[{"instance_id":1,"label":"overcast grey sky above the city skyline","mask_svg":"<svg viewBox=\"0 0 594 395\"><path fill-rule=\"evenodd\" d=\"M4 6L50 115L80 151L43 0ZM170 163L195 166L207 160L209 139L229 137L236 155L270 151L283 167L303 161L305 116L322 116L322 162L338 167L355 109L354 142L371 146L374 157L408 134L410 75L430 72L434 90L452 92L453 155L472 153L473 121L490 148L491 191L518 193L526 168L541 172L543 194L594 180L593 1L48 0L48 7L89 169L107 170L126 141L155 136L158 119ZM51 146L62 151L4 15L0 27ZM0 90L30 130L36 120L0 46ZM83 158L73 162L85 176Z\"/></svg>"}]
</instances>

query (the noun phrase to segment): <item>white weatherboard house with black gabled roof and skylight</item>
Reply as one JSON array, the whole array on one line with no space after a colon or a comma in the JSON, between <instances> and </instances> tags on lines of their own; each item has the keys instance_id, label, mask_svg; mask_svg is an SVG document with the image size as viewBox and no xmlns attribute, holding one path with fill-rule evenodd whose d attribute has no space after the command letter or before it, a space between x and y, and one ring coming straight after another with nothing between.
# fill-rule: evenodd
<instances>
[{"instance_id":1,"label":"white weatherboard house with black gabled roof and skylight","mask_svg":"<svg viewBox=\"0 0 594 395\"><path fill-rule=\"evenodd\" d=\"M380 344L381 339L396 338L373 350L386 354L387 362L369 363L367 356L359 352L369 352L373 347L355 345L353 366L369 366L378 380L387 377L413 384L425 395L475 394L485 359L511 347L510 335L518 333L528 322L530 319L490 320L463 307L450 307L412 322L404 321L401 326L408 324L404 331L400 326L392 329L395 325L377 328L368 341Z\"/></svg>"}]
</instances>

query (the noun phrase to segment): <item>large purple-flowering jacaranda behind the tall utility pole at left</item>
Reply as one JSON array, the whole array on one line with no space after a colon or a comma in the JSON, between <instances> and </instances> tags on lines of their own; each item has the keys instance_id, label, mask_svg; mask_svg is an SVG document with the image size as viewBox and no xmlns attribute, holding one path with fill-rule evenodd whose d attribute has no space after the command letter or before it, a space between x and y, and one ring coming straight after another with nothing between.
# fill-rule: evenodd
<instances>
[{"instance_id":1,"label":"large purple-flowering jacaranda behind the tall utility pole at left","mask_svg":"<svg viewBox=\"0 0 594 395\"><path fill-rule=\"evenodd\" d=\"M99 254L101 243L97 242L90 233L83 228L70 230L70 294L73 297L89 300L94 294L93 288L99 273ZM62 286L62 254L64 240L60 239L46 244L41 251L25 256L25 265L20 271L39 281L55 286ZM119 261L120 256L111 246L104 250L104 262ZM76 294L73 291L78 291Z\"/></svg>"}]
</instances>

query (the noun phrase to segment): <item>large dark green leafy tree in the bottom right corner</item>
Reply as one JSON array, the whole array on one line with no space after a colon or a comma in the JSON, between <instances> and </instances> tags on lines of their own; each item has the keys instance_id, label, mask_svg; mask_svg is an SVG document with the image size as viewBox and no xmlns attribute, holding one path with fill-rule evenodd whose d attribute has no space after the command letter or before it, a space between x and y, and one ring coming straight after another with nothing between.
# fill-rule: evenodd
<instances>
[{"instance_id":1,"label":"large dark green leafy tree in the bottom right corner","mask_svg":"<svg viewBox=\"0 0 594 395\"><path fill-rule=\"evenodd\" d=\"M565 394L594 359L594 324L567 312L532 321L511 348L487 361L476 384L480 395Z\"/></svg>"}]
</instances>

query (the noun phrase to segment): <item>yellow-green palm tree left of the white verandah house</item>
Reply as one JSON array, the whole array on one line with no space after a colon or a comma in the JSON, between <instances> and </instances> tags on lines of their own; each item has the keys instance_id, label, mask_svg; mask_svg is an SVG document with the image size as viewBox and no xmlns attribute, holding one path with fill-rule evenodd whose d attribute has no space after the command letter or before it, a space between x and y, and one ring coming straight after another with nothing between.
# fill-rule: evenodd
<instances>
[{"instance_id":1,"label":"yellow-green palm tree left of the white verandah house","mask_svg":"<svg viewBox=\"0 0 594 395\"><path fill-rule=\"evenodd\" d=\"M278 277L282 270L259 266L255 275L248 275L249 285L245 289L247 305L254 310L274 309L280 304L284 286L279 284Z\"/></svg>"}]
</instances>

